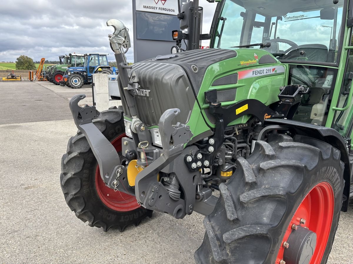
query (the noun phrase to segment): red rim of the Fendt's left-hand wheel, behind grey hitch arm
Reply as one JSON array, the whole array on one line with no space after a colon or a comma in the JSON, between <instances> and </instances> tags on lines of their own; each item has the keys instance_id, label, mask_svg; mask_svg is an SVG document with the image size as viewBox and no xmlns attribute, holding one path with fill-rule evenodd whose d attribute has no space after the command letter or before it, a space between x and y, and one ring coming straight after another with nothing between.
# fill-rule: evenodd
<instances>
[{"instance_id":1,"label":"red rim of the Fendt's left-hand wheel, behind grey hitch arm","mask_svg":"<svg viewBox=\"0 0 353 264\"><path fill-rule=\"evenodd\" d=\"M121 152L121 138L125 137L125 133L121 134L119 137L112 141L112 145L115 147L116 151ZM101 178L101 173L99 171L99 166L96 168L96 189L98 196L110 209L119 212L128 212L139 208L135 196L122 193L120 191L114 191L113 189L106 186ZM121 182L120 182L121 184ZM127 188L127 186L126 186Z\"/></svg>"}]
</instances>

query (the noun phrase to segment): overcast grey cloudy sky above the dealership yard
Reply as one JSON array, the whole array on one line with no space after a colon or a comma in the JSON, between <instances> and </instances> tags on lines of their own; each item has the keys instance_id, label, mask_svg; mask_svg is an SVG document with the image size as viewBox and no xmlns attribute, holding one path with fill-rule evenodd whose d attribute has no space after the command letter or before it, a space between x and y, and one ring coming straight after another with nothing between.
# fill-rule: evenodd
<instances>
[{"instance_id":1,"label":"overcast grey cloudy sky above the dealership yard","mask_svg":"<svg viewBox=\"0 0 353 264\"><path fill-rule=\"evenodd\" d=\"M203 33L208 33L216 4L200 0L200 5L204 7ZM108 40L113 27L106 26L110 18L123 21L133 39L132 0L2 1L0 17L0 61L14 62L20 55L53 61L71 52L107 52L113 61ZM126 55L133 62L133 46Z\"/></svg>"}]
</instances>

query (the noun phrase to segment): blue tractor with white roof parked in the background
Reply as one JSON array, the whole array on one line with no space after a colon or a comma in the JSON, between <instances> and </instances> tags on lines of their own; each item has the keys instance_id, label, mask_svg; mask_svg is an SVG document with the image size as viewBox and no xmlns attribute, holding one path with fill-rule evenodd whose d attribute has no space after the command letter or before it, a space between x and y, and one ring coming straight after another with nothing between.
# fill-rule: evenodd
<instances>
[{"instance_id":1,"label":"blue tractor with white roof parked in the background","mask_svg":"<svg viewBox=\"0 0 353 264\"><path fill-rule=\"evenodd\" d=\"M67 68L60 85L81 88L84 84L92 83L92 74L113 74L115 67L109 66L107 55L108 53L86 53L84 66Z\"/></svg>"}]
</instances>

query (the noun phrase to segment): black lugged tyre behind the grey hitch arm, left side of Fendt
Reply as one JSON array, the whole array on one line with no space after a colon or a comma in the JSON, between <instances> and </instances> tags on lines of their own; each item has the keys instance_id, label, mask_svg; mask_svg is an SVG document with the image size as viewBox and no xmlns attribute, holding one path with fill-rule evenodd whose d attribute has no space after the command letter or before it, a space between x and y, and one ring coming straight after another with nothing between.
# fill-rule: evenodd
<instances>
[{"instance_id":1,"label":"black lugged tyre behind the grey hitch arm, left side of Fendt","mask_svg":"<svg viewBox=\"0 0 353 264\"><path fill-rule=\"evenodd\" d=\"M121 147L121 137L125 135L121 109L109 108L109 110L103 111L93 123L108 140L120 140ZM100 175L97 177L96 172L98 171L96 158L86 137L78 132L76 136L70 138L67 153L62 156L62 173L60 175L60 185L66 203L75 212L77 218L83 222L88 221L88 225L91 227L102 227L104 231L108 231L110 228L118 228L123 231L126 226L132 224L137 226L146 216L152 216L152 211L139 207L133 196L119 191L114 192L104 186L104 183L101 184L103 180ZM102 192L106 191L104 187L108 189L108 192L110 190L110 196L105 193L105 198L104 194L102 195ZM114 208L112 197L114 195L115 199L120 200L115 204L122 208L120 211L112 209ZM125 203L125 201L129 203Z\"/></svg>"}]
</instances>

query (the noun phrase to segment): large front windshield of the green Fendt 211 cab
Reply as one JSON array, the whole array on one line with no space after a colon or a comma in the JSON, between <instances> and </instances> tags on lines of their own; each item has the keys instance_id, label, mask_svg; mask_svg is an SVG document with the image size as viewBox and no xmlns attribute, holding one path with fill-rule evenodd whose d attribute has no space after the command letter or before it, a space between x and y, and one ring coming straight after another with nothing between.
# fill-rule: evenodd
<instances>
[{"instance_id":1,"label":"large front windshield of the green Fendt 211 cab","mask_svg":"<svg viewBox=\"0 0 353 264\"><path fill-rule=\"evenodd\" d=\"M343 2L224 0L213 46L265 43L263 48L244 48L265 49L281 61L335 63L344 25Z\"/></svg>"}]
</instances>

